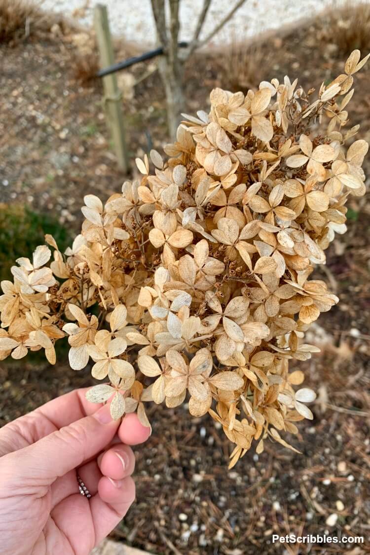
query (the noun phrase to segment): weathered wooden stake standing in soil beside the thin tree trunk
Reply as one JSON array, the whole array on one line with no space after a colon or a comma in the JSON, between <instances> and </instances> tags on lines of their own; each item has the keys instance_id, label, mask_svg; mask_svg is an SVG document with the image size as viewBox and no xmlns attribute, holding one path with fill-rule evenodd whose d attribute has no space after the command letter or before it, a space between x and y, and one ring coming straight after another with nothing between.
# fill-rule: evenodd
<instances>
[{"instance_id":1,"label":"weathered wooden stake standing in soil beside the thin tree trunk","mask_svg":"<svg viewBox=\"0 0 370 555\"><path fill-rule=\"evenodd\" d=\"M113 46L111 43L107 7L97 4L94 8L94 26L100 56L100 68L104 69L114 63ZM125 128L122 111L122 97L115 74L103 77L104 104L107 123L118 160L118 166L128 171L128 155L125 141Z\"/></svg>"}]
</instances>

